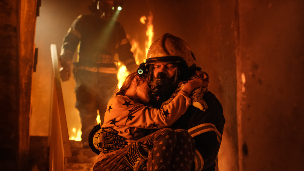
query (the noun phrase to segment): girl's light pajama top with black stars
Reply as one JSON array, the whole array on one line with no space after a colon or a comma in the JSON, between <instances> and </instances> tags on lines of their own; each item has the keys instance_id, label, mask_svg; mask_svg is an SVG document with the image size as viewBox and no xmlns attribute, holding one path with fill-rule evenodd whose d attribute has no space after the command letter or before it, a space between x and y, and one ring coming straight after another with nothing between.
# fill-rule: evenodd
<instances>
[{"instance_id":1,"label":"girl's light pajama top with black stars","mask_svg":"<svg viewBox=\"0 0 304 171\"><path fill-rule=\"evenodd\" d=\"M127 96L114 96L108 103L101 127L112 127L127 142L144 137L147 128L167 128L183 115L191 105L191 99L180 91L164 108L151 108Z\"/></svg>"}]
</instances>

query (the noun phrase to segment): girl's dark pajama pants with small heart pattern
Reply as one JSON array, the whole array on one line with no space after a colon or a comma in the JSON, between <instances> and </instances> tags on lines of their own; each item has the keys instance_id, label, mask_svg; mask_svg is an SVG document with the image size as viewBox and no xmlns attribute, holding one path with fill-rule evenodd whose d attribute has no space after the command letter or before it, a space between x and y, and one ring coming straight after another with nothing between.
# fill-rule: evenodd
<instances>
[{"instance_id":1,"label":"girl's dark pajama pants with small heart pattern","mask_svg":"<svg viewBox=\"0 0 304 171\"><path fill-rule=\"evenodd\" d=\"M163 128L106 154L93 170L187 171L191 169L194 153L194 140L186 130Z\"/></svg>"}]
</instances>

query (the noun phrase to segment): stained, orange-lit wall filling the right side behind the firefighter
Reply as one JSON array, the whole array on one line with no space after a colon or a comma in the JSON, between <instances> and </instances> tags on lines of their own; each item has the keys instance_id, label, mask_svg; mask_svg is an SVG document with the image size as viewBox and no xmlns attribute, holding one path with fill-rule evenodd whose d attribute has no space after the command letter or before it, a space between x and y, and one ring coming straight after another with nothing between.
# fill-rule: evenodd
<instances>
[{"instance_id":1,"label":"stained, orange-lit wall filling the right side behind the firefighter","mask_svg":"<svg viewBox=\"0 0 304 171\"><path fill-rule=\"evenodd\" d=\"M303 9L303 1L239 1L240 170L303 169Z\"/></svg>"}]
</instances>

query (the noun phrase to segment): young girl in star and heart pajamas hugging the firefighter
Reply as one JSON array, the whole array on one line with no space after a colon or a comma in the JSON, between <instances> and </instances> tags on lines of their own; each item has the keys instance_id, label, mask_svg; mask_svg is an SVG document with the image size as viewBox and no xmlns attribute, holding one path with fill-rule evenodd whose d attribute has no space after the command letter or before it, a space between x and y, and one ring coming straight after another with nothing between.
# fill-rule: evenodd
<instances>
[{"instance_id":1,"label":"young girl in star and heart pajamas hugging the firefighter","mask_svg":"<svg viewBox=\"0 0 304 171\"><path fill-rule=\"evenodd\" d=\"M117 135L126 138L128 145L107 153L99 142L94 143L102 151L94 170L190 170L195 150L192 137L186 130L166 127L191 105L192 90L206 84L201 78L190 80L168 105L156 109L147 106L150 94L147 74L132 72L109 101L101 126L114 129ZM163 129L144 137L149 128Z\"/></svg>"}]
</instances>

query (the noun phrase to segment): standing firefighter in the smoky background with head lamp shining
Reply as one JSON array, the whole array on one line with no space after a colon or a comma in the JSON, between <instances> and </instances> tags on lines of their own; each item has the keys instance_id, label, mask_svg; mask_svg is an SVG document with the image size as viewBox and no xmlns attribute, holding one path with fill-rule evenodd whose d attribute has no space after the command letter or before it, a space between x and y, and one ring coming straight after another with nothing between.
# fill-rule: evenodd
<instances>
[{"instance_id":1,"label":"standing firefighter in the smoky background with head lamp shining","mask_svg":"<svg viewBox=\"0 0 304 171\"><path fill-rule=\"evenodd\" d=\"M112 96L109 90L118 83L114 55L118 54L127 70L137 67L123 26L111 18L120 3L121 0L94 0L89 6L92 14L79 15L63 39L60 53L62 81L69 80L71 76L70 66L78 47L73 74L76 81L75 107L81 118L84 147L88 147L88 135L97 124L97 110L103 122L103 114Z\"/></svg>"}]
</instances>

